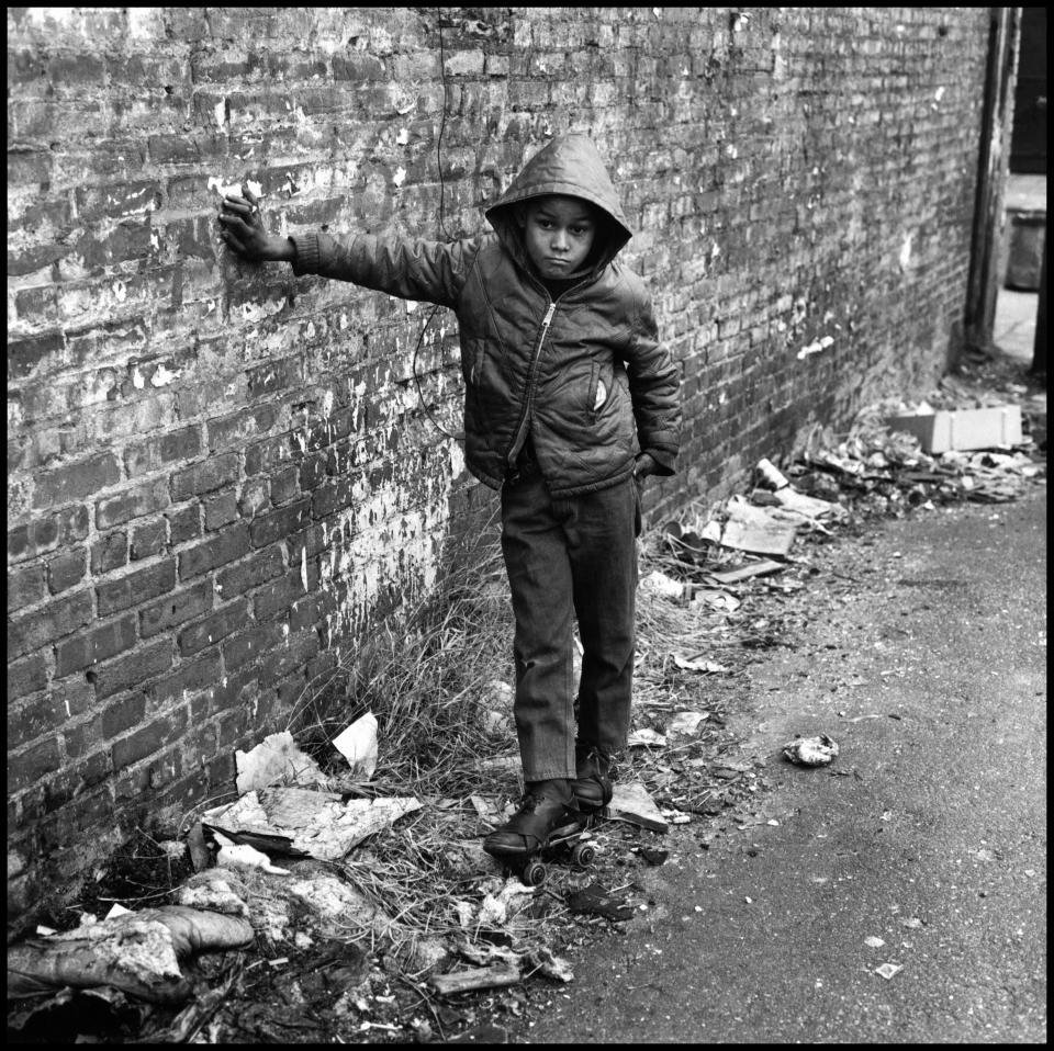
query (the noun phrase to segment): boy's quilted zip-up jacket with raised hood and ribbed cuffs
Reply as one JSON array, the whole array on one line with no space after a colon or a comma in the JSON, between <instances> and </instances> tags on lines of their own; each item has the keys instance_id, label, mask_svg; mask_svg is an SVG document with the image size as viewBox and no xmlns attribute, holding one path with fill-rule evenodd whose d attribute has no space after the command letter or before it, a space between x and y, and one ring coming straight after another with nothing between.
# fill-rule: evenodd
<instances>
[{"instance_id":1,"label":"boy's quilted zip-up jacket with raised hood and ribbed cuffs","mask_svg":"<svg viewBox=\"0 0 1054 1051\"><path fill-rule=\"evenodd\" d=\"M516 222L518 205L547 194L602 212L585 269L556 300ZM466 464L492 488L513 471L528 433L553 497L617 485L641 451L660 474L673 474L679 371L659 342L643 283L616 259L632 235L592 140L552 139L484 214L493 233L449 242L293 235L293 269L453 309Z\"/></svg>"}]
</instances>

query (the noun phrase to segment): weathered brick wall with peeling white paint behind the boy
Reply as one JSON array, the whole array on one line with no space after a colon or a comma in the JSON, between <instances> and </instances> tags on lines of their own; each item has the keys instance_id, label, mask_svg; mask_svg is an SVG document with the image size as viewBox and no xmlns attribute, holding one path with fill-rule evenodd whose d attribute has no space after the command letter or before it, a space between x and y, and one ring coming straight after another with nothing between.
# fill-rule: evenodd
<instances>
[{"instance_id":1,"label":"weathered brick wall with peeling white paint behind the boy","mask_svg":"<svg viewBox=\"0 0 1054 1051\"><path fill-rule=\"evenodd\" d=\"M234 749L493 507L422 411L425 307L239 264L228 188L276 231L437 236L442 208L474 233L548 136L590 132L683 370L655 512L929 382L954 342L987 9L7 18L15 912L228 791ZM416 371L455 429L450 315Z\"/></svg>"}]
</instances>

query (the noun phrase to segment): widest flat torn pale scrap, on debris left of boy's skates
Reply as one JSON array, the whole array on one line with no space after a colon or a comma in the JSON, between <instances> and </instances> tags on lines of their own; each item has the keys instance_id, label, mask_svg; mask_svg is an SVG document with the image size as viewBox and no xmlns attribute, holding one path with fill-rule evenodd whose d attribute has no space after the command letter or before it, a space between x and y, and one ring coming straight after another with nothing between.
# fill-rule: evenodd
<instances>
[{"instance_id":1,"label":"widest flat torn pale scrap, on debris left of boy's skates","mask_svg":"<svg viewBox=\"0 0 1054 1051\"><path fill-rule=\"evenodd\" d=\"M247 792L202 814L202 824L258 849L336 861L368 836L421 809L416 799L351 799L311 789Z\"/></svg>"}]
</instances>

